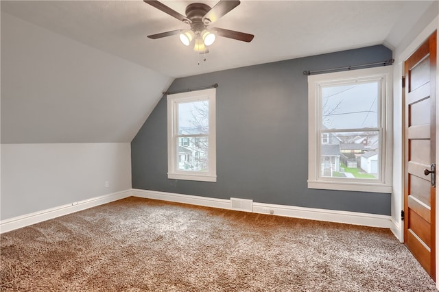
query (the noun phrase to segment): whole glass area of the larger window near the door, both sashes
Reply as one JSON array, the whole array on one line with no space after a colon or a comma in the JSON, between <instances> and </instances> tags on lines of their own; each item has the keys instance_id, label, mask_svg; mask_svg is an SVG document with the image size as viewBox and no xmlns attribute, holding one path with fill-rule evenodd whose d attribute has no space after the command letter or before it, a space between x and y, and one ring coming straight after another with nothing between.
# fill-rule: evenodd
<instances>
[{"instance_id":1,"label":"whole glass area of the larger window near the door, both sashes","mask_svg":"<svg viewBox=\"0 0 439 292\"><path fill-rule=\"evenodd\" d=\"M379 178L379 83L374 80L321 87L322 176Z\"/></svg>"}]
</instances>

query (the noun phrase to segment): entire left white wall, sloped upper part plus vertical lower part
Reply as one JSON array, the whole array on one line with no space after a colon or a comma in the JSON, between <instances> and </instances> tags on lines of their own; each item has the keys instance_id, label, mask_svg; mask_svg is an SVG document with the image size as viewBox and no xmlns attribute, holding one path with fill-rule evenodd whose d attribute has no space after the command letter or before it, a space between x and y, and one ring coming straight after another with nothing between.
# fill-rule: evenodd
<instances>
[{"instance_id":1,"label":"entire left white wall, sloped upper part plus vertical lower part","mask_svg":"<svg viewBox=\"0 0 439 292\"><path fill-rule=\"evenodd\" d=\"M130 141L172 78L4 12L0 23L0 220L130 189Z\"/></svg>"}]
</instances>

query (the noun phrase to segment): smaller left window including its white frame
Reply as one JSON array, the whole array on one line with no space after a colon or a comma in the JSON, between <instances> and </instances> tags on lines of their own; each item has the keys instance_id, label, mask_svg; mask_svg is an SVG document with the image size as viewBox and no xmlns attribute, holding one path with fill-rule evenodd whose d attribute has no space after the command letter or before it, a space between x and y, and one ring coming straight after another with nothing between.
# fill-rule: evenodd
<instances>
[{"instance_id":1,"label":"smaller left window including its white frame","mask_svg":"<svg viewBox=\"0 0 439 292\"><path fill-rule=\"evenodd\" d=\"M215 93L168 95L168 178L216 182Z\"/></svg>"}]
</instances>

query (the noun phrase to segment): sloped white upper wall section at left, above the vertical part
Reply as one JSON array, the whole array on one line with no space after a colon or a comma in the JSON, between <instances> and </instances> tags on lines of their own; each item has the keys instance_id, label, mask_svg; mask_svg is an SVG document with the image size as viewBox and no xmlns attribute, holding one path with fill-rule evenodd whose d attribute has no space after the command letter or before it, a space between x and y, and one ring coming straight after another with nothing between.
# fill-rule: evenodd
<instances>
[{"instance_id":1,"label":"sloped white upper wall section at left, above the vertical part","mask_svg":"<svg viewBox=\"0 0 439 292\"><path fill-rule=\"evenodd\" d=\"M1 61L1 143L130 142L173 80L5 12Z\"/></svg>"}]
</instances>

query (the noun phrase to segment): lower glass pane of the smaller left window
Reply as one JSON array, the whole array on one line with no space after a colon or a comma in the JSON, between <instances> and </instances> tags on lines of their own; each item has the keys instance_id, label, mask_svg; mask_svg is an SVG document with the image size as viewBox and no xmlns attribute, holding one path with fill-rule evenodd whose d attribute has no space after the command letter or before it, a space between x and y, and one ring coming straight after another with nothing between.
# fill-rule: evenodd
<instances>
[{"instance_id":1,"label":"lower glass pane of the smaller left window","mask_svg":"<svg viewBox=\"0 0 439 292\"><path fill-rule=\"evenodd\" d=\"M178 171L209 171L209 138L178 138L177 157Z\"/></svg>"}]
</instances>

